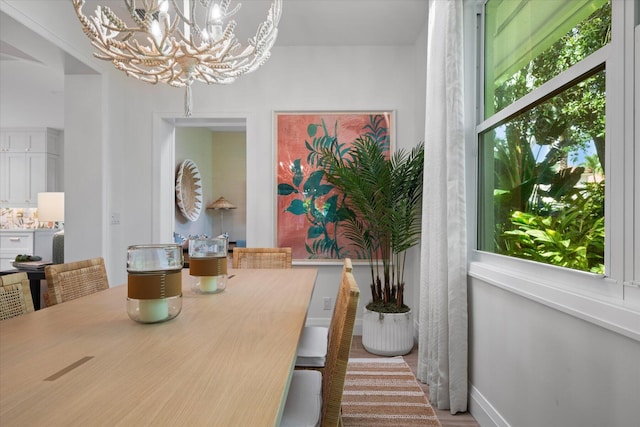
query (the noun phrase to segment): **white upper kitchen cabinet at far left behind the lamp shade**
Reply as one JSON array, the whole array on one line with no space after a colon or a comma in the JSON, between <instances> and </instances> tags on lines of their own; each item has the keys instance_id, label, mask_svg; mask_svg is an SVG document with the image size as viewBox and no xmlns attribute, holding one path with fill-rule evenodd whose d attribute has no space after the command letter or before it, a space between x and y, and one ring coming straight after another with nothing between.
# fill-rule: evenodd
<instances>
[{"instance_id":1,"label":"white upper kitchen cabinet at far left behind the lamp shade","mask_svg":"<svg viewBox=\"0 0 640 427\"><path fill-rule=\"evenodd\" d=\"M60 139L54 129L2 130L0 206L35 208L38 193L61 190Z\"/></svg>"}]
</instances>

